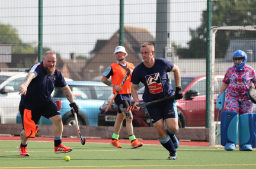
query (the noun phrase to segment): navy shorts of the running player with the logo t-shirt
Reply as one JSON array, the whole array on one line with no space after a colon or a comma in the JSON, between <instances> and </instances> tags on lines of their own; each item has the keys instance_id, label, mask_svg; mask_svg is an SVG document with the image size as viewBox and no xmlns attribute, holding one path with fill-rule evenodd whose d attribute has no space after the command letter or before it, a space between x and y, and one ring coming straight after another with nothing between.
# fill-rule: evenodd
<instances>
[{"instance_id":1,"label":"navy shorts of the running player with the logo t-shirt","mask_svg":"<svg viewBox=\"0 0 256 169\"><path fill-rule=\"evenodd\" d=\"M177 100L168 100L162 105L147 106L145 109L148 111L152 124L160 119L178 118Z\"/></svg>"}]
</instances>

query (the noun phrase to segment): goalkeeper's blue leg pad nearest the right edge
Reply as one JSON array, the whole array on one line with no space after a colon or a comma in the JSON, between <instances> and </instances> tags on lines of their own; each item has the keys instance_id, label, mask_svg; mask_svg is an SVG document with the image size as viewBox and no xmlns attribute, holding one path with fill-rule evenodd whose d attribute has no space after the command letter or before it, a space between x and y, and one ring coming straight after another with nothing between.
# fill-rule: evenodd
<instances>
[{"instance_id":1,"label":"goalkeeper's blue leg pad nearest the right edge","mask_svg":"<svg viewBox=\"0 0 256 169\"><path fill-rule=\"evenodd\" d=\"M251 144L252 148L255 148L255 121L256 121L256 113L245 113L240 115L239 117L239 147L242 144Z\"/></svg>"}]
</instances>

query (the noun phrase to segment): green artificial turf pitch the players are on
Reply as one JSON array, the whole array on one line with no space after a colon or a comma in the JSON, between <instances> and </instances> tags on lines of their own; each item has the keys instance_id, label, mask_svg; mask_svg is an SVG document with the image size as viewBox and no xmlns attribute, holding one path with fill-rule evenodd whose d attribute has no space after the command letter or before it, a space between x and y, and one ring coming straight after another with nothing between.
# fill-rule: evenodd
<instances>
[{"instance_id":1,"label":"green artificial turf pitch the players are on","mask_svg":"<svg viewBox=\"0 0 256 169\"><path fill-rule=\"evenodd\" d=\"M55 154L53 142L28 142L30 157L20 157L19 141L0 141L1 168L256 168L256 150L225 151L223 147L185 147L177 149L178 159L161 145L130 149L109 144L64 142L73 151ZM65 156L71 157L66 162Z\"/></svg>"}]
</instances>

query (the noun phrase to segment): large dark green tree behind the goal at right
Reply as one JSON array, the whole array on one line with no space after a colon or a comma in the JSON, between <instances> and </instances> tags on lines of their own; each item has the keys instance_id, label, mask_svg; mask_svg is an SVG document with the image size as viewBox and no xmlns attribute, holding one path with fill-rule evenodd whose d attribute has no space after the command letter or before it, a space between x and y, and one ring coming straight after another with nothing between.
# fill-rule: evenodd
<instances>
[{"instance_id":1,"label":"large dark green tree behind the goal at right","mask_svg":"<svg viewBox=\"0 0 256 169\"><path fill-rule=\"evenodd\" d=\"M256 1L212 1L212 26L255 25ZM195 30L190 29L191 40L188 48L177 48L180 58L206 57L206 11L201 15L201 25ZM256 38L255 32L217 31L216 58L225 56L232 38ZM220 50L221 49L221 50Z\"/></svg>"}]
</instances>

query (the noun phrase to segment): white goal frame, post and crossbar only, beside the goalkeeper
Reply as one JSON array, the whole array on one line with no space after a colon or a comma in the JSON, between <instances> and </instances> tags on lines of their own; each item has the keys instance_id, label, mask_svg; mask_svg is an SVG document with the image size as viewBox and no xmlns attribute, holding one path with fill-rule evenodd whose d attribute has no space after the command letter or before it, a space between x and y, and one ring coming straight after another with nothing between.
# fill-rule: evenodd
<instances>
[{"instance_id":1,"label":"white goal frame, post and crossbar only, beside the goalkeeper","mask_svg":"<svg viewBox=\"0 0 256 169\"><path fill-rule=\"evenodd\" d=\"M215 147L215 34L217 30L256 31L256 25L211 27L210 29L210 115L209 115L209 142Z\"/></svg>"}]
</instances>

